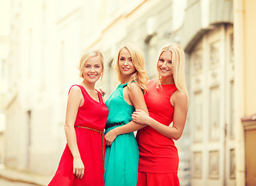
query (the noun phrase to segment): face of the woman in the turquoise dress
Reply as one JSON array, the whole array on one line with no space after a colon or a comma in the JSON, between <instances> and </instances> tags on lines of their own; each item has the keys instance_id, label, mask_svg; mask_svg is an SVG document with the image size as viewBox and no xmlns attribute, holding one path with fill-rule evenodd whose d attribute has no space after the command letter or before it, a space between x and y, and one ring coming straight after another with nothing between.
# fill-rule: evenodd
<instances>
[{"instance_id":1,"label":"face of the woman in the turquoise dress","mask_svg":"<svg viewBox=\"0 0 256 186\"><path fill-rule=\"evenodd\" d=\"M126 48L123 48L119 53L118 66L121 77L130 78L136 71L132 63L132 56Z\"/></svg>"}]
</instances>

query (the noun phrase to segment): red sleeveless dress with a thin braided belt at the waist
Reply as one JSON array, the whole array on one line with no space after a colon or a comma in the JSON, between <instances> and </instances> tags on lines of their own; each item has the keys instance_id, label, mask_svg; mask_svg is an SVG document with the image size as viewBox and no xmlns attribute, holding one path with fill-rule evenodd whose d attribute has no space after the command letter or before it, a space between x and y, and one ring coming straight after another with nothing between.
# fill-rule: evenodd
<instances>
[{"instance_id":1,"label":"red sleeveless dress with a thin braided belt at the waist","mask_svg":"<svg viewBox=\"0 0 256 186\"><path fill-rule=\"evenodd\" d=\"M79 86L81 88L84 98L83 105L78 109L74 127L79 153L85 167L85 174L82 179L75 177L73 174L73 157L67 144L58 165L58 170L48 185L103 186L105 138L100 131L103 132L107 122L107 106L104 104L99 92L100 102L96 102L81 85L75 84L73 86Z\"/></svg>"}]
</instances>

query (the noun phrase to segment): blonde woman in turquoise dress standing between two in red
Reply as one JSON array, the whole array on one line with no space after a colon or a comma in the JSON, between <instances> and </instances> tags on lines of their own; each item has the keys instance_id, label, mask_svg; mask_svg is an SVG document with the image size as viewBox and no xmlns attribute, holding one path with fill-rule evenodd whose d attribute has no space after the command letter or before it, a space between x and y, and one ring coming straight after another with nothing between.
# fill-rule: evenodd
<instances>
[{"instance_id":1,"label":"blonde woman in turquoise dress standing between two in red","mask_svg":"<svg viewBox=\"0 0 256 186\"><path fill-rule=\"evenodd\" d=\"M105 128L105 186L137 184L139 150L132 131L140 124L126 124L132 122L135 108L148 112L143 97L148 81L144 66L144 54L134 44L127 43L118 50L114 68L120 84L105 103L109 110Z\"/></svg>"}]
</instances>

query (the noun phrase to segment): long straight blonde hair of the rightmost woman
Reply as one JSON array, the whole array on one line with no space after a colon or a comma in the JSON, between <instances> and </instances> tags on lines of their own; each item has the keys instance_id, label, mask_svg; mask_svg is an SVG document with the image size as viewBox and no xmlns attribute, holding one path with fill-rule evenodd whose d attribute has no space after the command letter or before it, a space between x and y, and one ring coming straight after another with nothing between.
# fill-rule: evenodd
<instances>
[{"instance_id":1,"label":"long straight blonde hair of the rightmost woman","mask_svg":"<svg viewBox=\"0 0 256 186\"><path fill-rule=\"evenodd\" d=\"M188 97L188 90L186 85L186 78L185 78L185 55L184 50L176 43L170 43L164 45L158 54L157 63L164 51L170 51L172 53L172 64L173 64L173 76L174 76L174 83L179 91L182 91ZM156 73L158 84L160 84L160 74L159 71Z\"/></svg>"}]
</instances>

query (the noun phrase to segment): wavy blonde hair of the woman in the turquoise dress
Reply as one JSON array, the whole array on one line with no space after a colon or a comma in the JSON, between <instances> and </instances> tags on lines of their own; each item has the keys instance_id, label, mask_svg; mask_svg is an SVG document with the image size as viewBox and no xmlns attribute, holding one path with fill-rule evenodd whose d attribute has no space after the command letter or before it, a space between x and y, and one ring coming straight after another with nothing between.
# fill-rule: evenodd
<instances>
[{"instance_id":1,"label":"wavy blonde hair of the woman in the turquoise dress","mask_svg":"<svg viewBox=\"0 0 256 186\"><path fill-rule=\"evenodd\" d=\"M132 81L135 81L136 84L139 85L139 87L142 89L144 93L147 91L147 84L148 84L148 77L146 75L145 70L145 57L142 50L139 49L135 44L132 43L126 43L124 46L122 46L117 53L117 56L114 60L113 67L117 71L117 79L118 81L121 81L121 71L119 70L119 57L120 52L122 49L127 49L132 57L132 64L135 66L136 71L132 74L130 77L130 80L128 81L128 88L129 84Z\"/></svg>"}]
</instances>

